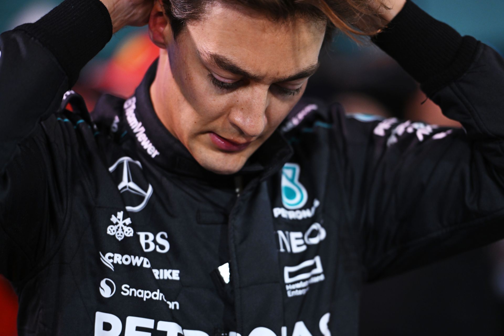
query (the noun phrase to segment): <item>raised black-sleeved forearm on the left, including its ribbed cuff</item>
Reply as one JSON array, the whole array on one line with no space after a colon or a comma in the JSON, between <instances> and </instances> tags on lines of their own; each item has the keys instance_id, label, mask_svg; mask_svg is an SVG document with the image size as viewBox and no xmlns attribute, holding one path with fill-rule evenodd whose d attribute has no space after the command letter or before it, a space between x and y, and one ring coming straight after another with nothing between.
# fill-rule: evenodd
<instances>
[{"instance_id":1,"label":"raised black-sleeved forearm on the left, including its ribbed cuff","mask_svg":"<svg viewBox=\"0 0 504 336\"><path fill-rule=\"evenodd\" d=\"M98 0L67 0L36 23L0 35L0 171L111 35Z\"/></svg>"}]
</instances>

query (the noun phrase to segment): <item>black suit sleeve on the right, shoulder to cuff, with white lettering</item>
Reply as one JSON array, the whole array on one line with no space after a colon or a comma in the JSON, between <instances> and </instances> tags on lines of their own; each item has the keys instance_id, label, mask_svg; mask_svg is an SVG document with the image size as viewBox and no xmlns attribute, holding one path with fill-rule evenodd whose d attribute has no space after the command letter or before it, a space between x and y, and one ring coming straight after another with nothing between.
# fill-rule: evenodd
<instances>
[{"instance_id":1,"label":"black suit sleeve on the right, shoulder to cuff, with white lettering","mask_svg":"<svg viewBox=\"0 0 504 336\"><path fill-rule=\"evenodd\" d=\"M375 43L464 128L340 118L368 280L504 237L503 59L411 2L389 27Z\"/></svg>"}]
</instances>

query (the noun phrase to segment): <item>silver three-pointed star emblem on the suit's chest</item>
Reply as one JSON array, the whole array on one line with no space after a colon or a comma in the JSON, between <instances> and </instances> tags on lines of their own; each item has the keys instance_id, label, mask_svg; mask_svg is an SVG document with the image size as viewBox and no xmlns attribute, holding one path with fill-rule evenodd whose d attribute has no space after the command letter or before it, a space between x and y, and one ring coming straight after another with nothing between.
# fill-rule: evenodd
<instances>
[{"instance_id":1,"label":"silver three-pointed star emblem on the suit's chest","mask_svg":"<svg viewBox=\"0 0 504 336\"><path fill-rule=\"evenodd\" d=\"M149 201L149 198L152 196L152 185L148 183L148 186L146 188L142 188L138 185L138 183L135 183L133 181L132 167L138 166L140 167L140 169L142 169L142 164L140 163L140 161L133 160L132 158L127 156L124 156L117 160L112 166L110 166L110 168L108 168L108 171L110 173L114 172L120 164L122 164L122 174L121 181L117 185L117 188L119 189L119 192L121 194L124 194L124 201L133 202L135 199L137 203L140 203L137 206L126 206L126 210L131 212L139 212L140 210L145 208L147 202ZM131 164L134 165L131 166Z\"/></svg>"}]
</instances>

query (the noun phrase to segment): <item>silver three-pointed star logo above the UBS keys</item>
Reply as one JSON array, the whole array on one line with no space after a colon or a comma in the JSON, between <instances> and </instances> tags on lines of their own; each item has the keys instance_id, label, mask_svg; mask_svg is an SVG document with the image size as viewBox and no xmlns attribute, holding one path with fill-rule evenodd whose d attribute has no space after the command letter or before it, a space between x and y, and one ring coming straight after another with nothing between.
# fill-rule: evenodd
<instances>
[{"instance_id":1,"label":"silver three-pointed star logo above the UBS keys","mask_svg":"<svg viewBox=\"0 0 504 336\"><path fill-rule=\"evenodd\" d=\"M120 165L122 165L122 170L119 169L120 182L117 188L124 199L124 203L129 204L126 206L126 210L139 212L145 208L149 198L152 196L152 185L145 181L142 174L132 174L132 171L142 169L140 161L124 156L110 166L108 171L113 173ZM135 181L132 176L135 176Z\"/></svg>"}]
</instances>

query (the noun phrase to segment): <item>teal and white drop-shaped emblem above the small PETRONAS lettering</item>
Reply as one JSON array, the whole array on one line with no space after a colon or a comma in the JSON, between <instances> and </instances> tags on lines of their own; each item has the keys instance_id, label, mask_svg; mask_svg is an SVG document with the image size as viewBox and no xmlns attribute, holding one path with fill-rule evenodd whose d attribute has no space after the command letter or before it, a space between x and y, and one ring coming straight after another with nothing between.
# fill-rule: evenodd
<instances>
[{"instance_id":1,"label":"teal and white drop-shaped emblem above the small PETRONAS lettering","mask_svg":"<svg viewBox=\"0 0 504 336\"><path fill-rule=\"evenodd\" d=\"M297 163L286 163L282 168L282 204L289 210L302 208L308 200L308 193L299 182L300 171Z\"/></svg>"}]
</instances>

